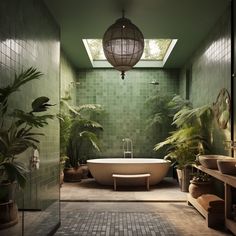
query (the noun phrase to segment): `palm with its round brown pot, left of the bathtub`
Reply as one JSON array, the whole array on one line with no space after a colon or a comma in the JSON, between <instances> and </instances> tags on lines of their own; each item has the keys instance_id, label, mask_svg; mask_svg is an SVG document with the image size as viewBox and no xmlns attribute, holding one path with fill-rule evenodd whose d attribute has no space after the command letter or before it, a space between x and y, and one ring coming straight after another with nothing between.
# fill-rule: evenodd
<instances>
[{"instance_id":1,"label":"palm with its round brown pot, left of the bathtub","mask_svg":"<svg viewBox=\"0 0 236 236\"><path fill-rule=\"evenodd\" d=\"M98 131L103 130L102 126L90 119L87 114L91 111L101 110L100 105L85 104L81 106L69 105L62 99L61 113L63 122L68 122L68 139L64 140L68 159L65 163L64 180L66 182L80 181L84 174L79 161L86 157L92 149L100 151Z\"/></svg>"}]
</instances>

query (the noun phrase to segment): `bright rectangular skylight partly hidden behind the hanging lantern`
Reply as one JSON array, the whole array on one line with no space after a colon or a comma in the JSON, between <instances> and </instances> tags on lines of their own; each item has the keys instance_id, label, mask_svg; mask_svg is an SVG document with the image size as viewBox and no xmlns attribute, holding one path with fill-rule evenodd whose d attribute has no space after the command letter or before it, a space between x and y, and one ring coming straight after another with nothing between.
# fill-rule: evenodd
<instances>
[{"instance_id":1,"label":"bright rectangular skylight partly hidden behind the hanging lantern","mask_svg":"<svg viewBox=\"0 0 236 236\"><path fill-rule=\"evenodd\" d=\"M145 39L144 52L135 67L163 67L173 50L176 39ZM102 39L83 39L93 67L111 67L106 61Z\"/></svg>"}]
</instances>

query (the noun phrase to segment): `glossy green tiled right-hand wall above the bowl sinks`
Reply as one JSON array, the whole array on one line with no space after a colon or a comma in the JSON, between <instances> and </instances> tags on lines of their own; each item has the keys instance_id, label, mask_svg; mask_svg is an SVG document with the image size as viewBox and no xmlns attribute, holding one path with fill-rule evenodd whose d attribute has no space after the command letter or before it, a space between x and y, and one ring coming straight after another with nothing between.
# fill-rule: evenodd
<instances>
[{"instance_id":1,"label":"glossy green tiled right-hand wall above the bowl sinks","mask_svg":"<svg viewBox=\"0 0 236 236\"><path fill-rule=\"evenodd\" d=\"M222 88L230 92L230 53L230 9L228 9L181 70L180 94L183 96L186 95L186 70L192 71L189 93L194 107L213 104ZM230 140L230 126L222 130L214 124L212 152L230 154L230 150L225 150L223 143L225 140Z\"/></svg>"}]
</instances>

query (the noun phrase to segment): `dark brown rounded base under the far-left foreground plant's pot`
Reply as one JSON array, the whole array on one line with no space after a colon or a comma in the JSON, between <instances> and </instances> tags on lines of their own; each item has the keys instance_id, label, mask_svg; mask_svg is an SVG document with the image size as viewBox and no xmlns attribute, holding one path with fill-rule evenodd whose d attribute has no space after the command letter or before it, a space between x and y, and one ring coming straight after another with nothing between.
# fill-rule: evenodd
<instances>
[{"instance_id":1,"label":"dark brown rounded base under the far-left foreground plant's pot","mask_svg":"<svg viewBox=\"0 0 236 236\"><path fill-rule=\"evenodd\" d=\"M0 203L0 229L11 227L18 223L18 209L12 200Z\"/></svg>"}]
</instances>

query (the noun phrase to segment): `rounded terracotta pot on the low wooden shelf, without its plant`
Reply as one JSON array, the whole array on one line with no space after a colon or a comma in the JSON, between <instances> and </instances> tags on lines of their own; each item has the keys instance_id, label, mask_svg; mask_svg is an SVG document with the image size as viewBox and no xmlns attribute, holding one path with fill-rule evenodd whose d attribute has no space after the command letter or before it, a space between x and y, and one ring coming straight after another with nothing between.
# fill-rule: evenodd
<instances>
[{"instance_id":1,"label":"rounded terracotta pot on the low wooden shelf, without its plant","mask_svg":"<svg viewBox=\"0 0 236 236\"><path fill-rule=\"evenodd\" d=\"M202 194L212 193L212 182L211 181L205 181L205 182L199 182L199 181L190 181L189 185L189 193L193 198L198 198Z\"/></svg>"}]
</instances>

